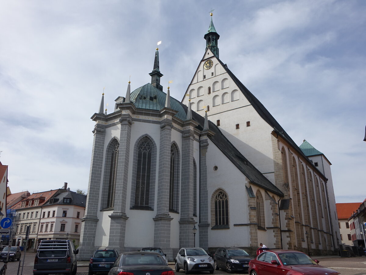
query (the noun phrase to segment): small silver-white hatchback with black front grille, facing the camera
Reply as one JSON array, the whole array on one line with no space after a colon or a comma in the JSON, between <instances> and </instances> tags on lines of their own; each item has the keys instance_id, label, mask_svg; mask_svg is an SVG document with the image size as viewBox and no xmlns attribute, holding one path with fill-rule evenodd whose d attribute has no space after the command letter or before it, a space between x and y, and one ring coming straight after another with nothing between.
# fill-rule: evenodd
<instances>
[{"instance_id":1,"label":"small silver-white hatchback with black front grille, facing the camera","mask_svg":"<svg viewBox=\"0 0 366 275\"><path fill-rule=\"evenodd\" d=\"M186 274L191 271L214 272L214 264L211 255L201 247L182 247L175 257L175 271L184 269Z\"/></svg>"}]
</instances>

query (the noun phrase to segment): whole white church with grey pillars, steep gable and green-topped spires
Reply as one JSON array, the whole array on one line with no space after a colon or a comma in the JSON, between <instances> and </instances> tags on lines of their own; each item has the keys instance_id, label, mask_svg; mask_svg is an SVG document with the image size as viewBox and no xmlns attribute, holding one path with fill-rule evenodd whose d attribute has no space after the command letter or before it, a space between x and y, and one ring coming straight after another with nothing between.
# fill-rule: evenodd
<instances>
[{"instance_id":1,"label":"whole white church with grey pillars, steep gable and green-topped spires","mask_svg":"<svg viewBox=\"0 0 366 275\"><path fill-rule=\"evenodd\" d=\"M212 14L211 14L212 16ZM151 83L118 96L96 122L78 257L95 249L239 246L334 254L340 239L330 162L298 146L219 59L212 22L206 49L179 101Z\"/></svg>"}]
</instances>

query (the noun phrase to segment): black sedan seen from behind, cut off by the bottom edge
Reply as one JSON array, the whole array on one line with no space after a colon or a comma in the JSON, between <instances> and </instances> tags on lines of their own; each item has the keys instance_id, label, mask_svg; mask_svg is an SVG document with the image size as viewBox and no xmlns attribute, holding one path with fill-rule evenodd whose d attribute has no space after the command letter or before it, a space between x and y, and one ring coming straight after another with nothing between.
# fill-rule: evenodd
<instances>
[{"instance_id":1,"label":"black sedan seen from behind, cut off by the bottom edge","mask_svg":"<svg viewBox=\"0 0 366 275\"><path fill-rule=\"evenodd\" d=\"M108 275L174 275L163 257L156 252L124 252L119 254Z\"/></svg>"}]
</instances>

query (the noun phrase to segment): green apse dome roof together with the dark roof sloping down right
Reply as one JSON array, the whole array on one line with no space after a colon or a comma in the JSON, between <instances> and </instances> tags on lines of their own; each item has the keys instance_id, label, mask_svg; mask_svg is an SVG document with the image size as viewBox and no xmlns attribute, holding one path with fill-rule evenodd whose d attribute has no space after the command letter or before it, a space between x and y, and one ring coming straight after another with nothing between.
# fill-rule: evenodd
<instances>
[{"instance_id":1,"label":"green apse dome roof together with the dark roof sloping down right","mask_svg":"<svg viewBox=\"0 0 366 275\"><path fill-rule=\"evenodd\" d=\"M166 96L167 94L158 90L150 83L147 83L131 93L131 102L134 102L134 105L137 108L160 110L165 106ZM171 109L178 111L176 114L178 118L183 121L186 120L188 109L186 105L171 97ZM192 111L192 118L199 123L197 128L202 130L205 119L194 111ZM211 121L209 121L209 129L215 133L215 135L209 137L210 140L212 140L221 152L223 152L223 154L250 180L251 183L273 192L274 194L283 196L281 190L263 176L262 173L259 172L259 170L231 144L231 142L229 142L223 133L221 133L220 129Z\"/></svg>"}]
</instances>

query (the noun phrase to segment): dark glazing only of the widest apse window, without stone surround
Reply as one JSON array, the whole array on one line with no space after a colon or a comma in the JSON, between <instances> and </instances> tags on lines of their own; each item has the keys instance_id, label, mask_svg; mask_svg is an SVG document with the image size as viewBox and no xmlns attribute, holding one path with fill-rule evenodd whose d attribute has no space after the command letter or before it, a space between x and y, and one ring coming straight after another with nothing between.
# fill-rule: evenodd
<instances>
[{"instance_id":1,"label":"dark glazing only of the widest apse window, without stone surround","mask_svg":"<svg viewBox=\"0 0 366 275\"><path fill-rule=\"evenodd\" d=\"M148 207L152 158L152 144L150 140L143 139L140 142L137 154L135 206Z\"/></svg>"}]
</instances>

